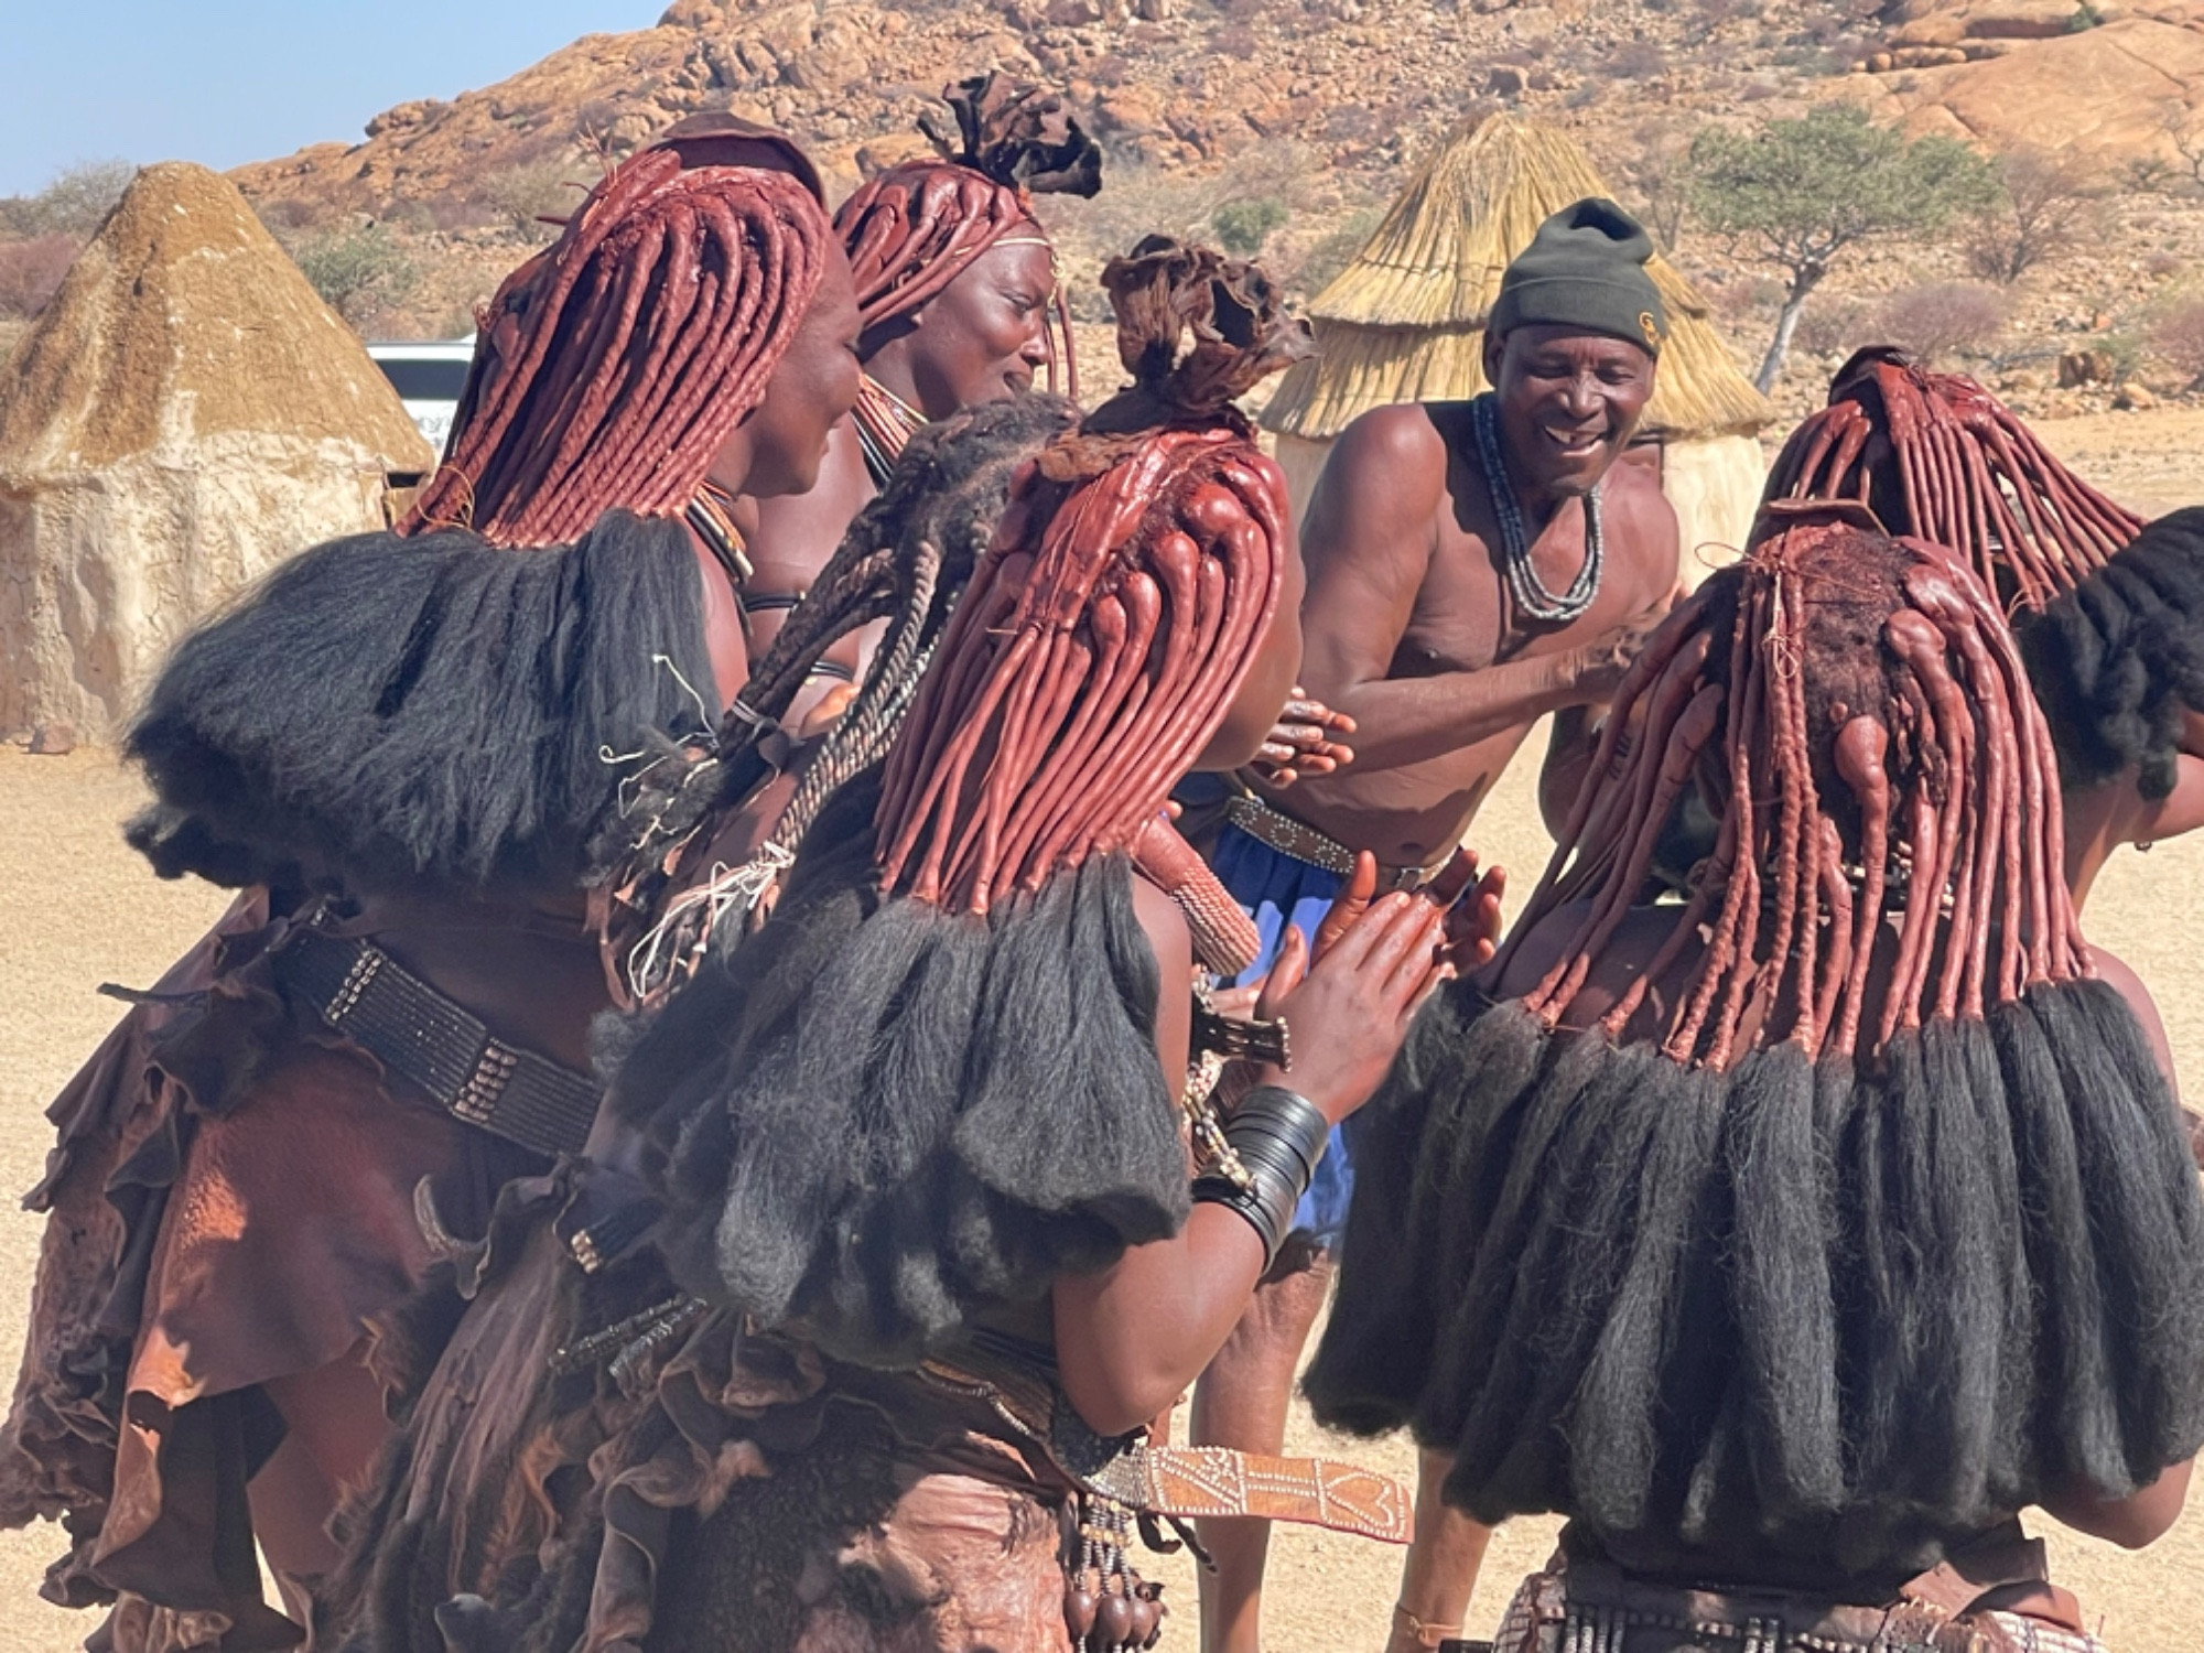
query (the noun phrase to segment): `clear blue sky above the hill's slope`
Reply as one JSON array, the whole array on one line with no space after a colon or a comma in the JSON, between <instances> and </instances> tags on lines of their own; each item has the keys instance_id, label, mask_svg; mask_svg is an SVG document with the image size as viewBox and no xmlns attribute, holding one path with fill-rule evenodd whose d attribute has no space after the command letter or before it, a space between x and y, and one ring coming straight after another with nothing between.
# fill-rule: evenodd
<instances>
[{"instance_id":1,"label":"clear blue sky above the hill's slope","mask_svg":"<svg viewBox=\"0 0 2204 1653\"><path fill-rule=\"evenodd\" d=\"M489 86L666 0L11 0L0 194L77 161L231 168L357 143L377 110Z\"/></svg>"}]
</instances>

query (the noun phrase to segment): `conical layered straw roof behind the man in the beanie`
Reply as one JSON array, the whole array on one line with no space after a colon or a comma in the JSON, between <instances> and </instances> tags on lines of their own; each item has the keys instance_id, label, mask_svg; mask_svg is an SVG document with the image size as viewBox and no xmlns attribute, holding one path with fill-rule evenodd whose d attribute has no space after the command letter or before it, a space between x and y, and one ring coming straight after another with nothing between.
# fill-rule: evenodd
<instances>
[{"instance_id":1,"label":"conical layered straw roof behind the man in the beanie","mask_svg":"<svg viewBox=\"0 0 2204 1653\"><path fill-rule=\"evenodd\" d=\"M1567 132L1519 115L1457 132L1309 304L1318 355L1278 381L1263 425L1327 441L1371 408L1485 390L1485 313L1508 262L1552 214L1605 194ZM1774 408L1730 361L1706 300L1666 258L1651 271L1671 333L1646 430L1713 436L1770 423Z\"/></svg>"}]
</instances>

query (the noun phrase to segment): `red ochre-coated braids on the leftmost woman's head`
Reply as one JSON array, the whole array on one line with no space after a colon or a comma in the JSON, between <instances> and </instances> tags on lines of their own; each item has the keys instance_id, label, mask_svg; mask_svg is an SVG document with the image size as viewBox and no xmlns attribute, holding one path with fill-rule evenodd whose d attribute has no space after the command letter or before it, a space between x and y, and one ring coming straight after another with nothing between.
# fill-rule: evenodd
<instances>
[{"instance_id":1,"label":"red ochre-coated braids on the leftmost woman's head","mask_svg":"<svg viewBox=\"0 0 2204 1653\"><path fill-rule=\"evenodd\" d=\"M829 251L800 156L769 170L699 154L714 150L670 139L630 156L505 280L443 465L401 531L553 544L613 507L688 509L763 399Z\"/></svg>"}]
</instances>

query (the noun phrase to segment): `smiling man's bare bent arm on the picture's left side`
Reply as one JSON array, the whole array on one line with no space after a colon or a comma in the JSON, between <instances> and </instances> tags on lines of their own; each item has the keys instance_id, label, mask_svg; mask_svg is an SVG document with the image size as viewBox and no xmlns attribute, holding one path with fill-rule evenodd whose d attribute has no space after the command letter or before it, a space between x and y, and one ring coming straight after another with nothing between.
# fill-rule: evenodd
<instances>
[{"instance_id":1,"label":"smiling man's bare bent arm on the picture's left side","mask_svg":"<svg viewBox=\"0 0 2204 1653\"><path fill-rule=\"evenodd\" d=\"M1309 692L1355 721L1355 771L1397 769L1569 705L1580 655L1481 672L1389 679L1430 571L1446 503L1446 443L1417 406L1378 408L1340 436L1300 531Z\"/></svg>"}]
</instances>

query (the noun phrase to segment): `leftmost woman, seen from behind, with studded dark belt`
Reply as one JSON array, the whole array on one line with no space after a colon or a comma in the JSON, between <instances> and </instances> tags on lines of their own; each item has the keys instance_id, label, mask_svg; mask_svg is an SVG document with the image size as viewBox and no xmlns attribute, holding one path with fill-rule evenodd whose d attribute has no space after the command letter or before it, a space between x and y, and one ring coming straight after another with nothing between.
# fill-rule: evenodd
<instances>
[{"instance_id":1,"label":"leftmost woman, seen from behind, with studded dark belt","mask_svg":"<svg viewBox=\"0 0 2204 1653\"><path fill-rule=\"evenodd\" d=\"M132 842L249 895L55 1104L4 1488L68 1521L48 1596L119 1598L101 1646L304 1635L421 1214L480 1232L595 1113L577 879L619 754L745 681L683 511L807 487L855 339L802 154L685 123L498 291L401 531L302 553L156 681Z\"/></svg>"}]
</instances>

